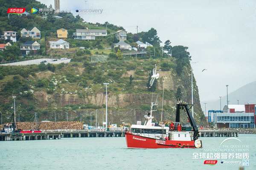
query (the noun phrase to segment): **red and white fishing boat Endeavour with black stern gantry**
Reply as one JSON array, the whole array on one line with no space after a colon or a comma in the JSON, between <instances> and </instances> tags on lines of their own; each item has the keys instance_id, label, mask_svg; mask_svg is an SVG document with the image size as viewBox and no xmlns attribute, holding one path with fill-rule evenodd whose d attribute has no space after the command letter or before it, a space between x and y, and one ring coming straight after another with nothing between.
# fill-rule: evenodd
<instances>
[{"instance_id":1,"label":"red and white fishing boat Endeavour with black stern gantry","mask_svg":"<svg viewBox=\"0 0 256 170\"><path fill-rule=\"evenodd\" d=\"M189 112L189 105L178 102L176 106L176 120L166 127L163 122L160 125L153 123L152 116L154 103L144 125L131 125L131 130L125 132L125 140L128 148L200 148L202 142L198 139L198 127ZM192 127L191 131L185 131L180 126L180 109L186 112Z\"/></svg>"}]
</instances>

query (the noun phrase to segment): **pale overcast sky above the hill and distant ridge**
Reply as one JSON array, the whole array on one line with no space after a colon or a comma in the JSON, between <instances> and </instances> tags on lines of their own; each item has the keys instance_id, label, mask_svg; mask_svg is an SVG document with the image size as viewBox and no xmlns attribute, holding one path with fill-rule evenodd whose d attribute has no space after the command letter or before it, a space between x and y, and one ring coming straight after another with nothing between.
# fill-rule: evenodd
<instances>
[{"instance_id":1,"label":"pale overcast sky above the hill and distant ridge","mask_svg":"<svg viewBox=\"0 0 256 170\"><path fill-rule=\"evenodd\" d=\"M40 0L47 6L54 0ZM256 80L255 0L60 0L61 10L103 9L80 14L129 32L157 29L160 39L189 47L201 102L218 99ZM201 72L204 68L207 71Z\"/></svg>"}]
</instances>

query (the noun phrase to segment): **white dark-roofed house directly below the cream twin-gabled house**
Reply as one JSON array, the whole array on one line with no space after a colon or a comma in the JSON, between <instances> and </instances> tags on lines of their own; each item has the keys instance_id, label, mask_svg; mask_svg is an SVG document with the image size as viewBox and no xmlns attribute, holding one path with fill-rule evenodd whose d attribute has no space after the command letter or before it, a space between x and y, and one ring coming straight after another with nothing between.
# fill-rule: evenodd
<instances>
[{"instance_id":1,"label":"white dark-roofed house directly below the cream twin-gabled house","mask_svg":"<svg viewBox=\"0 0 256 170\"><path fill-rule=\"evenodd\" d=\"M20 51L23 55L36 54L40 50L40 44L36 41L27 41L20 45Z\"/></svg>"}]
</instances>

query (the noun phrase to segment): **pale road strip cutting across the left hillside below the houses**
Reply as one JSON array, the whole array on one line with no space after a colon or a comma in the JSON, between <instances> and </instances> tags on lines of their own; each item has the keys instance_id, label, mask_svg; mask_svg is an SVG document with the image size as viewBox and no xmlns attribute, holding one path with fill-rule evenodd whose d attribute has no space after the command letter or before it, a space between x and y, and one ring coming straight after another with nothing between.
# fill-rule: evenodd
<instances>
[{"instance_id":1,"label":"pale road strip cutting across the left hillside below the houses","mask_svg":"<svg viewBox=\"0 0 256 170\"><path fill-rule=\"evenodd\" d=\"M7 63L7 64L1 64L1 65L32 65L32 64L37 64L39 65L42 61L47 61L44 62L45 64L50 63L50 64L60 64L60 63L69 63L70 59L58 59L57 61L53 61L52 59L49 58L41 58L41 59L31 59L31 60L27 60L27 61L20 61L20 62L11 62L11 63Z\"/></svg>"}]
</instances>

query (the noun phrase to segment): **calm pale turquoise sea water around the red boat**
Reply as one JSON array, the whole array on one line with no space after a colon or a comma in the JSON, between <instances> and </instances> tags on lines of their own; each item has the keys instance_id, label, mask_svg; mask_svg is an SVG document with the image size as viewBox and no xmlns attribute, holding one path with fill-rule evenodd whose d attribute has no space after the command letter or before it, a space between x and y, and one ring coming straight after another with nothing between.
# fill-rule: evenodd
<instances>
[{"instance_id":1,"label":"calm pale turquoise sea water around the red boat","mask_svg":"<svg viewBox=\"0 0 256 170\"><path fill-rule=\"evenodd\" d=\"M122 137L6 141L0 142L0 170L238 170L239 164L221 164L222 159L217 159L216 165L204 165L206 159L193 159L193 153L219 153L224 139L227 138L201 138L201 149L127 149ZM238 139L242 143L230 139L223 145L234 148L248 144L249 151L241 151L249 152L245 170L256 170L256 135L240 134Z\"/></svg>"}]
</instances>

